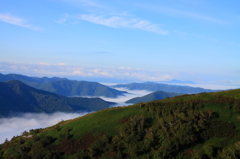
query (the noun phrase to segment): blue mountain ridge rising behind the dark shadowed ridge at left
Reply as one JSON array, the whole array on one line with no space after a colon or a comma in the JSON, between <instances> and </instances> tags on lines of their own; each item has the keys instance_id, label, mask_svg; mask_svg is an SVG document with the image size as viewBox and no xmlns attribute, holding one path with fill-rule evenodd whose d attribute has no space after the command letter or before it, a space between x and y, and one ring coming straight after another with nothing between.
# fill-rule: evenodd
<instances>
[{"instance_id":1,"label":"blue mountain ridge rising behind the dark shadowed ridge at left","mask_svg":"<svg viewBox=\"0 0 240 159\"><path fill-rule=\"evenodd\" d=\"M64 96L105 96L116 98L123 96L125 91L119 91L98 82L73 81L66 78L37 78L17 74L0 74L0 81L19 80L31 87L57 93Z\"/></svg>"}]
</instances>

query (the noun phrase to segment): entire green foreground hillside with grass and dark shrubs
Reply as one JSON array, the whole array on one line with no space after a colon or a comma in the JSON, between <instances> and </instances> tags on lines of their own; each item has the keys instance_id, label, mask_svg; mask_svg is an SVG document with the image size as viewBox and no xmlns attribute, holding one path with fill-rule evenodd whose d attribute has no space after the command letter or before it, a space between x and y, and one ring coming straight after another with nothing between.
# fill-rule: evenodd
<instances>
[{"instance_id":1,"label":"entire green foreground hillside with grass and dark shrubs","mask_svg":"<svg viewBox=\"0 0 240 159\"><path fill-rule=\"evenodd\" d=\"M0 145L2 158L240 157L240 89L101 110Z\"/></svg>"}]
</instances>

